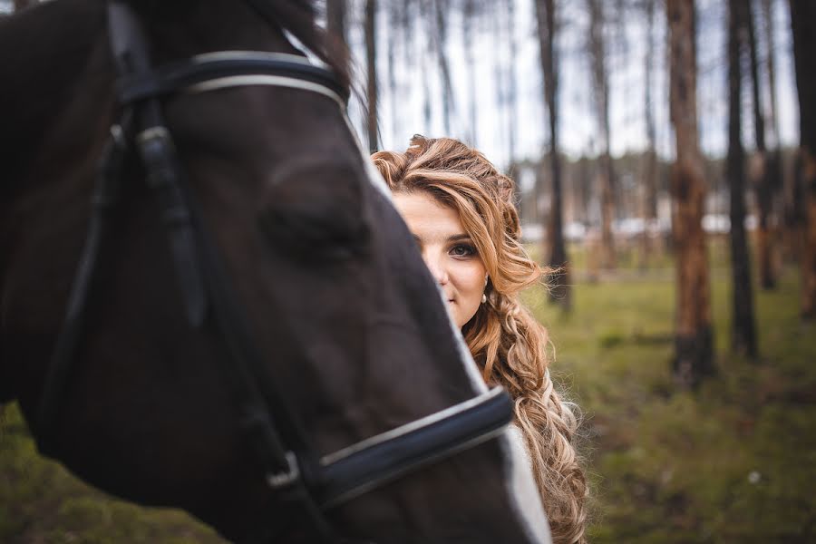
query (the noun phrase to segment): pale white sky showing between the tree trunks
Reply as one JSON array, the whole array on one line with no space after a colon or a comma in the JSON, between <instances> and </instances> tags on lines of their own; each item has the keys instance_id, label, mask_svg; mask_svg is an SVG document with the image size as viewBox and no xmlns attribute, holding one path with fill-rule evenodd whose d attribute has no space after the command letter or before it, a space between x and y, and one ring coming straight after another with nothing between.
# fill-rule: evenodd
<instances>
[{"instance_id":1,"label":"pale white sky showing between the tree trunks","mask_svg":"<svg viewBox=\"0 0 816 544\"><path fill-rule=\"evenodd\" d=\"M361 2L350 2L362 5ZM385 3L381 3L383 5ZM559 139L561 149L573 157L597 153L597 123L592 115L591 83L588 75L588 57L584 43L588 34L588 15L581 2L558 3L563 10L560 15L562 31L557 47L561 52L560 89L561 102ZM607 3L611 6L612 3ZM727 5L718 0L698 0L698 115L700 141L703 151L710 155L724 155L727 149L727 70L726 25ZM362 17L362 9L356 10ZM383 149L404 150L414 133L426 136L444 134L442 124L442 85L435 58L426 46L431 39L425 29L414 29L411 51L397 51L394 55L394 80L397 96L388 89L387 33L394 25L382 13L378 20L378 70L380 84L380 135ZM448 21L449 39L446 51L451 64L455 111L452 115L450 134L469 141L500 166L510 161L510 130L514 132L513 159L533 159L549 145L546 130L546 111L542 106L542 83L539 70L539 45L536 38L535 14L531 0L515 3L513 34L517 43L514 69L518 81L518 106L509 112L506 104L500 105L497 94L501 82L510 74L510 39L503 27L507 11L499 10L482 16L474 40L475 81L468 83L465 63L465 47L462 41L461 17L456 14ZM352 16L349 42L357 60L357 74L364 81L364 38L362 20ZM795 80L792 73L792 44L790 20L786 2L774 2L774 60L776 63L776 88L779 124L782 143L798 143L798 105ZM627 14L624 34L626 45L610 46L610 125L612 131L611 151L620 155L627 151L646 148L645 104L645 54L647 45L645 18L640 14ZM665 63L665 15L658 12L655 18L652 44L656 52L653 64L652 100L657 122L657 150L665 157L672 157L674 136L668 123L668 76ZM759 31L757 34L762 34ZM762 38L762 35L760 35ZM761 44L761 62L765 58ZM498 67L497 67L498 66ZM430 122L423 114L423 88L430 89ZM753 142L753 114L751 96L745 86L743 92L743 141L747 148ZM471 131L469 111L471 102L477 109L476 131ZM765 104L769 103L767 92ZM364 123L359 104L352 103L350 114L360 134ZM510 128L512 127L512 128Z\"/></svg>"}]
</instances>

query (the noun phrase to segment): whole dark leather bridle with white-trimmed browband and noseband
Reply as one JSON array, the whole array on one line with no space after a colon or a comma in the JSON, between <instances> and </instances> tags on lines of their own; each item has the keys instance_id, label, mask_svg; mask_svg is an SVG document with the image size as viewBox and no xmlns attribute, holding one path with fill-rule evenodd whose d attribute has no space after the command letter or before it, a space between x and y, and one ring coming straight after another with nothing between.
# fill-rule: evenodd
<instances>
[{"instance_id":1,"label":"whole dark leather bridle with white-trimmed browband and noseband","mask_svg":"<svg viewBox=\"0 0 816 544\"><path fill-rule=\"evenodd\" d=\"M263 0L249 2L268 16ZM175 156L160 99L179 92L273 85L323 94L338 102L345 114L347 93L333 73L291 54L206 53L153 68L141 24L122 0L108 2L108 30L119 75L121 117L102 151L83 253L44 384L36 421L40 449L55 452L58 409L83 336L101 249L109 238L110 212L119 201L123 163L133 151L160 208L189 325L215 326L227 355L219 358L226 384L267 484L277 504L297 512L314 531L315 540L338 541L325 518L326 510L503 432L513 410L509 395L497 387L339 452L318 456L285 396L262 372L263 358Z\"/></svg>"}]
</instances>

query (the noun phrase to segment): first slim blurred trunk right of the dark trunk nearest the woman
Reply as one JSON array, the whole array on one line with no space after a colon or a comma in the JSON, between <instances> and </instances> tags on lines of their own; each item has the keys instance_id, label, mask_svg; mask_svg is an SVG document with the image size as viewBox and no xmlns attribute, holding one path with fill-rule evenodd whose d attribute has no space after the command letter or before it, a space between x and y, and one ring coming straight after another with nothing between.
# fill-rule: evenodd
<instances>
[{"instance_id":1,"label":"first slim blurred trunk right of the dark trunk nearest the woman","mask_svg":"<svg viewBox=\"0 0 816 544\"><path fill-rule=\"evenodd\" d=\"M587 0L589 8L589 59L592 65L592 82L595 96L598 136L601 156L598 171L601 191L601 264L616 267L615 239L612 236L612 220L615 218L615 172L609 151L609 75L607 73L607 47L604 39L604 2Z\"/></svg>"}]
</instances>

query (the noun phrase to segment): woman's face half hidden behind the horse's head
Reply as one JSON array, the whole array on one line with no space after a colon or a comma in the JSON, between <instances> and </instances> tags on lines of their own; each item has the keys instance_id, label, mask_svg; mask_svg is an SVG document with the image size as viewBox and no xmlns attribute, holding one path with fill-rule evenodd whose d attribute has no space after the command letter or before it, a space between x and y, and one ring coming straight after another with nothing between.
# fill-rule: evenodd
<instances>
[{"instance_id":1,"label":"woman's face half hidden behind the horse's head","mask_svg":"<svg viewBox=\"0 0 816 544\"><path fill-rule=\"evenodd\" d=\"M458 327L476 315L487 271L459 215L429 193L395 193L394 204L413 233L425 264L445 294Z\"/></svg>"}]
</instances>

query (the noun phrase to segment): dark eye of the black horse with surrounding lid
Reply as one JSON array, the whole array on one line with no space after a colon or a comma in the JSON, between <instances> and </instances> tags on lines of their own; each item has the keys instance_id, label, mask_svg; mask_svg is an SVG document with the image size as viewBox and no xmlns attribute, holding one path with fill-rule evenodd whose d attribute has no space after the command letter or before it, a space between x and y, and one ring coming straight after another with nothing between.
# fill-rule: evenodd
<instances>
[{"instance_id":1,"label":"dark eye of the black horse with surrounding lid","mask_svg":"<svg viewBox=\"0 0 816 544\"><path fill-rule=\"evenodd\" d=\"M344 260L366 247L361 178L343 169L326 170L290 170L264 196L258 226L293 257Z\"/></svg>"}]
</instances>

